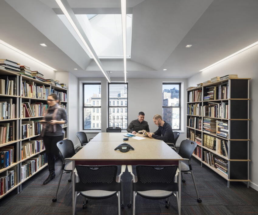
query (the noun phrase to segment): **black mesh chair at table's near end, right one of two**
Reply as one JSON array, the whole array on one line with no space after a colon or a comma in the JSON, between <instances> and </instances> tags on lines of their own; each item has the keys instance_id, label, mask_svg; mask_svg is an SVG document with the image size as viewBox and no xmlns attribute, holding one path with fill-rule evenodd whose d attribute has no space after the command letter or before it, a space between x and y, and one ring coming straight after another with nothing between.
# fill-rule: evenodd
<instances>
[{"instance_id":1,"label":"black mesh chair at table's near end, right one of two","mask_svg":"<svg viewBox=\"0 0 258 215\"><path fill-rule=\"evenodd\" d=\"M132 166L127 166L128 171L132 175L133 190L133 215L135 215L135 200L139 195L146 199L167 199L166 207L169 208L169 197L174 194L177 198L177 209L179 208L178 186L177 186L177 165L170 166L146 166L137 165L136 175L132 173ZM130 193L130 203L132 203Z\"/></svg>"}]
</instances>

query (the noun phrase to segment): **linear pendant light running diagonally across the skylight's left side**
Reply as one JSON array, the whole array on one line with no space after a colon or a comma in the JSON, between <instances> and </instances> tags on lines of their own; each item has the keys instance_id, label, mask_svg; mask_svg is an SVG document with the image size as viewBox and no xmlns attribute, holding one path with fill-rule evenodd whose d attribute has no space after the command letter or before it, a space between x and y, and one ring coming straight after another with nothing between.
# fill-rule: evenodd
<instances>
[{"instance_id":1,"label":"linear pendant light running diagonally across the skylight's left side","mask_svg":"<svg viewBox=\"0 0 258 215\"><path fill-rule=\"evenodd\" d=\"M72 25L72 27L74 28L74 30L77 33L77 35L79 36L79 38L81 39L82 43L85 45L85 47L90 52L92 58L94 59L94 61L96 62L96 64L98 65L98 67L100 68L102 73L105 75L108 82L110 83L111 81L110 81L107 71L104 70L102 63L98 58L98 55L96 54L93 47L91 46L90 41L88 40L87 36L85 35L81 25L79 24L76 16L74 15L74 12L73 12L72 8L70 7L70 5L68 4L67 0L56 0L56 2L59 5L62 12L64 13L64 15L66 16L66 18L68 19L68 21L70 22L70 24Z\"/></svg>"}]
</instances>

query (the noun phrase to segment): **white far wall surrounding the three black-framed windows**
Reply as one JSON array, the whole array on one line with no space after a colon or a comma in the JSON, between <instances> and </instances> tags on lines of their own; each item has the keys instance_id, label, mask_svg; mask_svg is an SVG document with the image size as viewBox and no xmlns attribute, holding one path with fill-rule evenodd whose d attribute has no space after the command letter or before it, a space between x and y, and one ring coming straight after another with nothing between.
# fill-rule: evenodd
<instances>
[{"instance_id":1,"label":"white far wall surrounding the three black-framed windows","mask_svg":"<svg viewBox=\"0 0 258 215\"><path fill-rule=\"evenodd\" d=\"M123 78L111 78L112 82L124 83ZM145 119L149 126L150 131L156 131L157 126L153 123L152 117L155 114L162 115L162 82L181 82L181 104L186 104L186 97L184 92L186 91L187 79L154 79L154 78L129 78L128 81L128 123L137 119L139 111L145 113ZM79 78L78 79L78 99L79 99L79 121L78 127L82 130L82 83L83 82L101 82L101 131L105 132L107 128L107 80L105 78ZM185 124L186 121L186 108L181 111L181 136L177 140L177 145L186 137ZM99 132L99 131L98 131ZM98 133L97 132L97 133ZM86 132L87 137L94 137L96 132Z\"/></svg>"}]
</instances>

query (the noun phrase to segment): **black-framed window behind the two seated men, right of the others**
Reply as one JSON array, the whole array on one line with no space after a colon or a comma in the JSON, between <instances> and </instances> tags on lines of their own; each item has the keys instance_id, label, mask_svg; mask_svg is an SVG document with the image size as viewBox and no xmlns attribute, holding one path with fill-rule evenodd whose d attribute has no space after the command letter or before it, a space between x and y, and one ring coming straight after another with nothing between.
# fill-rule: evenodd
<instances>
[{"instance_id":1,"label":"black-framed window behind the two seated men, right of the others","mask_svg":"<svg viewBox=\"0 0 258 215\"><path fill-rule=\"evenodd\" d=\"M173 130L181 129L181 83L163 83L162 118Z\"/></svg>"}]
</instances>

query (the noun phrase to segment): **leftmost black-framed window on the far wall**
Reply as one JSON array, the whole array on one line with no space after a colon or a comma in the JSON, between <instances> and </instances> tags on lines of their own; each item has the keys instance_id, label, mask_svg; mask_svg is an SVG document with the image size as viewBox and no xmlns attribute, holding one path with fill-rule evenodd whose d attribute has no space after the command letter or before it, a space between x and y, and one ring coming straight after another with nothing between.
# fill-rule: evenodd
<instances>
[{"instance_id":1,"label":"leftmost black-framed window on the far wall","mask_svg":"<svg viewBox=\"0 0 258 215\"><path fill-rule=\"evenodd\" d=\"M84 83L83 84L83 130L95 129L95 123L92 123L96 119L93 116L95 110L101 108L101 84L100 83ZM97 117L96 123L100 124L101 115ZM98 127L101 128L101 127Z\"/></svg>"}]
</instances>

